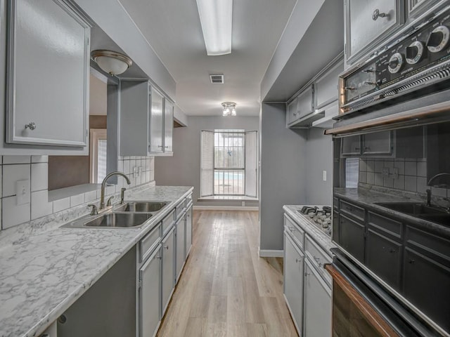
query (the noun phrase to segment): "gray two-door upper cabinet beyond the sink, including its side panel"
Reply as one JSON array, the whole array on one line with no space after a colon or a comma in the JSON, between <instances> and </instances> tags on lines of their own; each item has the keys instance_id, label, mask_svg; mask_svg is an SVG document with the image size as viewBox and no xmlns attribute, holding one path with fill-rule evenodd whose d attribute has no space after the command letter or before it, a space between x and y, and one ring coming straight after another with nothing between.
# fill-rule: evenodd
<instances>
[{"instance_id":1,"label":"gray two-door upper cabinet beyond the sink, including its side panel","mask_svg":"<svg viewBox=\"0 0 450 337\"><path fill-rule=\"evenodd\" d=\"M120 81L120 155L172 155L173 111L148 81Z\"/></svg>"}]
</instances>

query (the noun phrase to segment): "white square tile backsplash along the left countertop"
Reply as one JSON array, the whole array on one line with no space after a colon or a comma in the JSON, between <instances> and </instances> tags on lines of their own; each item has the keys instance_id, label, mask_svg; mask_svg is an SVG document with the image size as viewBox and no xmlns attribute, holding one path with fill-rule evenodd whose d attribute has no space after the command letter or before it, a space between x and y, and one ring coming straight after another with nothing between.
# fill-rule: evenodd
<instances>
[{"instance_id":1,"label":"white square tile backsplash along the left countertop","mask_svg":"<svg viewBox=\"0 0 450 337\"><path fill-rule=\"evenodd\" d=\"M0 156L1 230L100 198L99 187L94 185L87 192L81 189L77 191L77 187L68 187L68 189L72 189L70 195L67 195L68 189L63 189L66 195L54 190L51 191L49 199L48 161L48 156ZM129 176L131 185L128 186L120 177L117 185L106 188L106 195L120 192L121 187L136 187L154 180L154 157L120 157L117 164L118 171ZM21 205L18 205L16 198L16 182L18 180L30 182L26 187L30 198Z\"/></svg>"}]
</instances>

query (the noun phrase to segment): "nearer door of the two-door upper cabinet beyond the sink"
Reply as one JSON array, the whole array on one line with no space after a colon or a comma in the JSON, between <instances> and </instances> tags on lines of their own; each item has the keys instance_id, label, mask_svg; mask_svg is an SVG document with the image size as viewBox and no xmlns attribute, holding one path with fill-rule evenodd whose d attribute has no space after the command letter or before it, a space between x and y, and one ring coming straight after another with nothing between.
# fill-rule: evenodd
<instances>
[{"instance_id":1,"label":"nearer door of the two-door upper cabinet beyond the sink","mask_svg":"<svg viewBox=\"0 0 450 337\"><path fill-rule=\"evenodd\" d=\"M150 90L151 95L151 110L150 110L150 133L149 133L149 147L150 152L158 153L163 151L162 145L162 95L153 87Z\"/></svg>"}]
</instances>

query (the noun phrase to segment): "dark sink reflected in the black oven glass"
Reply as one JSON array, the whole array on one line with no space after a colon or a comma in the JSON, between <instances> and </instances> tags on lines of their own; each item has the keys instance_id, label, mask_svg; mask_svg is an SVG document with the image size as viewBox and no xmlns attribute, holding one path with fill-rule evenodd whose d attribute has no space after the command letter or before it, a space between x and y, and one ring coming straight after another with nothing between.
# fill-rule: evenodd
<instances>
[{"instance_id":1,"label":"dark sink reflected in the black oven glass","mask_svg":"<svg viewBox=\"0 0 450 337\"><path fill-rule=\"evenodd\" d=\"M417 202L380 202L375 204L409 216L439 223L439 225L450 225L450 213L437 206L428 206Z\"/></svg>"}]
</instances>

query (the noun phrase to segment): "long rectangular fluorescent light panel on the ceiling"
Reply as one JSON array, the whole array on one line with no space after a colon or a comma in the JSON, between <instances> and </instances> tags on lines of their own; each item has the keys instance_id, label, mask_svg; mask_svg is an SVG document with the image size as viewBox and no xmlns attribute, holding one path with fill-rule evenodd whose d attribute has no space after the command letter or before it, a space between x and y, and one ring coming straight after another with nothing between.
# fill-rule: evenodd
<instances>
[{"instance_id":1,"label":"long rectangular fluorescent light panel on the ceiling","mask_svg":"<svg viewBox=\"0 0 450 337\"><path fill-rule=\"evenodd\" d=\"M197 0L207 55L231 53L233 0Z\"/></svg>"}]
</instances>

